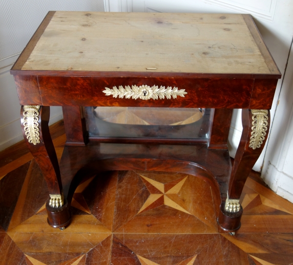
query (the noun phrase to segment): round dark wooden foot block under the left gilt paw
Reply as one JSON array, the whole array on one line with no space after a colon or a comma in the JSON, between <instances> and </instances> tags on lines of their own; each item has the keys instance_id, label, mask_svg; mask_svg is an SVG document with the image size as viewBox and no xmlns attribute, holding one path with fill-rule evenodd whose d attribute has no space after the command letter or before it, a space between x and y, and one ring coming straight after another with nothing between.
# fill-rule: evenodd
<instances>
[{"instance_id":1,"label":"round dark wooden foot block under the left gilt paw","mask_svg":"<svg viewBox=\"0 0 293 265\"><path fill-rule=\"evenodd\" d=\"M50 226L54 228L63 228L70 223L71 214L67 202L62 207L58 208L51 207L49 202L47 202L46 209L48 213L47 222Z\"/></svg>"}]
</instances>

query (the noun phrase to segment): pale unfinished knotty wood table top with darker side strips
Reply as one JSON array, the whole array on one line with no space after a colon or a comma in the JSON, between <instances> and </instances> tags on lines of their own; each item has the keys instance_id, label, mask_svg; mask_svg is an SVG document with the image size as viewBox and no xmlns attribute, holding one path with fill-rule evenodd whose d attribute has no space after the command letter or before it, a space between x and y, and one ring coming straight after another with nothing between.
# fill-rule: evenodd
<instances>
[{"instance_id":1,"label":"pale unfinished knotty wood table top with darker side strips","mask_svg":"<svg viewBox=\"0 0 293 265\"><path fill-rule=\"evenodd\" d=\"M280 75L250 15L50 11L12 70Z\"/></svg>"}]
</instances>

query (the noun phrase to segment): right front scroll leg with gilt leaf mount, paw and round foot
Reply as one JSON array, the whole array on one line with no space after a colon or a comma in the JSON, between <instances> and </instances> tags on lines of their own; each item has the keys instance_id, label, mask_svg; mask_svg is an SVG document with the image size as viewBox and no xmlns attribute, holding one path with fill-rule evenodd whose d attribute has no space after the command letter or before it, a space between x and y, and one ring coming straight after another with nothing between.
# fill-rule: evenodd
<instances>
[{"instance_id":1,"label":"right front scroll leg with gilt leaf mount, paw and round foot","mask_svg":"<svg viewBox=\"0 0 293 265\"><path fill-rule=\"evenodd\" d=\"M220 226L230 232L238 230L241 225L243 209L239 203L240 196L248 175L267 141L270 111L243 109L242 127L241 140L232 165L227 198L222 198L224 200L222 200L218 218Z\"/></svg>"}]
</instances>

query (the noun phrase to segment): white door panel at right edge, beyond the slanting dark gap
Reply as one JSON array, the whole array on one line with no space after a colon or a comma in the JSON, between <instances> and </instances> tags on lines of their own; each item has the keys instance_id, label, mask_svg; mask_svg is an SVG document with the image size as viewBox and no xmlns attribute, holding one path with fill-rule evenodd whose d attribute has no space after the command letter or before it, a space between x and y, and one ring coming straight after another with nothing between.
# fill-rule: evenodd
<instances>
[{"instance_id":1,"label":"white door panel at right edge, beyond the slanting dark gap","mask_svg":"<svg viewBox=\"0 0 293 265\"><path fill-rule=\"evenodd\" d=\"M293 45L278 99L264 159L262 178L278 195L293 202Z\"/></svg>"}]
</instances>

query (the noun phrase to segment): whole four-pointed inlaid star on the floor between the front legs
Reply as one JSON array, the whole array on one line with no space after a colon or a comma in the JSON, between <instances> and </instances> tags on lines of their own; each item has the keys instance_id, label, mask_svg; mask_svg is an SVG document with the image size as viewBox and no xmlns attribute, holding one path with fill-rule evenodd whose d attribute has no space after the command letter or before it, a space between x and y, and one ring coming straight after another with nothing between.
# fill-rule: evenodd
<instances>
[{"instance_id":1,"label":"whole four-pointed inlaid star on the floor between the front legs","mask_svg":"<svg viewBox=\"0 0 293 265\"><path fill-rule=\"evenodd\" d=\"M150 195L148 196L146 202L141 207L138 213L154 209L161 205L167 205L176 210L191 214L178 203L174 202L173 199L174 195L178 194L178 192L182 188L188 176L165 184L149 179L143 175L140 175L140 177L146 185L146 188L148 189Z\"/></svg>"}]
</instances>

